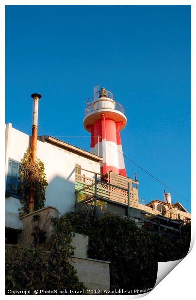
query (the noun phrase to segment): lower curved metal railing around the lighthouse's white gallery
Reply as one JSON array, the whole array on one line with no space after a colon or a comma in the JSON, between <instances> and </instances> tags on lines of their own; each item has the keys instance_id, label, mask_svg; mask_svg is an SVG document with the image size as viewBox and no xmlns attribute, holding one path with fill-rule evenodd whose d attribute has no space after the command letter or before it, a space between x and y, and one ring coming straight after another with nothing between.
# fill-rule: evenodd
<instances>
[{"instance_id":1,"label":"lower curved metal railing around the lighthouse's white gallery","mask_svg":"<svg viewBox=\"0 0 196 300\"><path fill-rule=\"evenodd\" d=\"M124 108L118 102L116 102L114 100L110 100L110 99L101 100L101 98L99 98L99 100L89 103L86 106L84 116L86 116L86 115L90 114L91 112L96 111L98 109L108 109L108 108L118 110L124 114Z\"/></svg>"}]
</instances>

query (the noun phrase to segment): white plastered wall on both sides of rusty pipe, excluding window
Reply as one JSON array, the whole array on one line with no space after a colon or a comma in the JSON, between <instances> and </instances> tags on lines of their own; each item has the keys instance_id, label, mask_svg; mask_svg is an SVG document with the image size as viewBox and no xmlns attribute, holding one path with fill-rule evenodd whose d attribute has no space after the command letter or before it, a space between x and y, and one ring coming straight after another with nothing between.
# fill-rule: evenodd
<instances>
[{"instance_id":1,"label":"white plastered wall on both sides of rusty pipe, excluding window","mask_svg":"<svg viewBox=\"0 0 196 300\"><path fill-rule=\"evenodd\" d=\"M14 129L11 124L7 124L6 128L5 177L9 158L20 162L30 145L29 135ZM75 164L100 173L99 162L39 140L37 141L37 157L45 165L49 184L46 189L45 206L54 206L60 213L74 210L75 207ZM85 171L82 171L82 174L88 177L93 175ZM6 212L17 212L19 207L19 199L13 197L5 199Z\"/></svg>"}]
</instances>

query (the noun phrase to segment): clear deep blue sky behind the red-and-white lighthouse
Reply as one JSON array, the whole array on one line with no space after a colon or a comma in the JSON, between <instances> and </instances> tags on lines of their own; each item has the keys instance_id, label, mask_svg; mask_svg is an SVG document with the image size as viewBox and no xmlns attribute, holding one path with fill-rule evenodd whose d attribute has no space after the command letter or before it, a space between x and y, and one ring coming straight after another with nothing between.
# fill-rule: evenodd
<instances>
[{"instance_id":1,"label":"clear deep blue sky behind the red-and-white lighthouse","mask_svg":"<svg viewBox=\"0 0 196 300\"><path fill-rule=\"evenodd\" d=\"M39 135L89 135L85 99L100 84L125 108L124 153L191 200L190 5L8 5L5 33L6 123L31 135L38 92ZM90 135L60 139L90 148ZM140 198L163 200L160 183L125 164Z\"/></svg>"}]
</instances>

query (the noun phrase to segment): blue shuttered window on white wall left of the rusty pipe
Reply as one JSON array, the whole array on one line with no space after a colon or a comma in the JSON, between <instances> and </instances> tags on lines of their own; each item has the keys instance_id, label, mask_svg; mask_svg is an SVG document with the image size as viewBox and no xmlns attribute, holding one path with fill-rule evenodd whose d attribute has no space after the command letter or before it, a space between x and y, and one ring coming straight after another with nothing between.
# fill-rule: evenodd
<instances>
[{"instance_id":1,"label":"blue shuttered window on white wall left of the rusty pipe","mask_svg":"<svg viewBox=\"0 0 196 300\"><path fill-rule=\"evenodd\" d=\"M18 176L19 176L19 163L9 160L6 195L18 197Z\"/></svg>"}]
</instances>

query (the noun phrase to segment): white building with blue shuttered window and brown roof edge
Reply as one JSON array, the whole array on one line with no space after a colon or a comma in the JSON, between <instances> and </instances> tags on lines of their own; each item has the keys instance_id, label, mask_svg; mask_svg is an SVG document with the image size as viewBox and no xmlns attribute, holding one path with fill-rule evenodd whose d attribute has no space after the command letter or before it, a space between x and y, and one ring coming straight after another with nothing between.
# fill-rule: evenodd
<instances>
[{"instance_id":1,"label":"white building with blue shuttered window and brown roof edge","mask_svg":"<svg viewBox=\"0 0 196 300\"><path fill-rule=\"evenodd\" d=\"M22 229L17 195L19 163L27 148L30 148L31 136L5 125L5 227ZM82 167L82 175L92 177L92 172L100 172L102 158L51 136L39 136L37 157L44 163L48 181L45 206L56 207L61 214L73 211L76 203L75 167ZM90 175L90 176L89 176Z\"/></svg>"}]
</instances>

